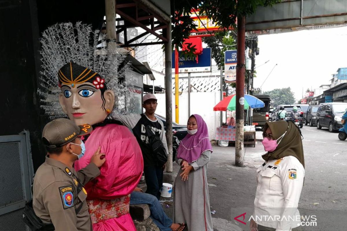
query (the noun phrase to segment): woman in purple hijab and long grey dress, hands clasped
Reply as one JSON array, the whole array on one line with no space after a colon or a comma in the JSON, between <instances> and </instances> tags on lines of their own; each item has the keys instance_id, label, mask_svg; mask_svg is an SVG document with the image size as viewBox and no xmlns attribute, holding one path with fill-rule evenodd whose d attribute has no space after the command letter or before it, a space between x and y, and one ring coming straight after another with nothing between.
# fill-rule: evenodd
<instances>
[{"instance_id":1,"label":"woman in purple hijab and long grey dress, hands clasped","mask_svg":"<svg viewBox=\"0 0 347 231\"><path fill-rule=\"evenodd\" d=\"M206 176L212 153L208 128L194 114L188 119L187 131L176 156L181 168L175 180L175 222L185 223L189 231L213 231Z\"/></svg>"}]
</instances>

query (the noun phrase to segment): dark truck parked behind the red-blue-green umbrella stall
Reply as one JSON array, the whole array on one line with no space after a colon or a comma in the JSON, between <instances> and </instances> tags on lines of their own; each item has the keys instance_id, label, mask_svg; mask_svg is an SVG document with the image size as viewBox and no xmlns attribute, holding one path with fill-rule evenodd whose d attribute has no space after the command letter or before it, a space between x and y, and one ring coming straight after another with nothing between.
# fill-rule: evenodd
<instances>
[{"instance_id":1,"label":"dark truck parked behind the red-blue-green umbrella stall","mask_svg":"<svg viewBox=\"0 0 347 231\"><path fill-rule=\"evenodd\" d=\"M253 109L252 125L255 127L263 128L266 122L269 122L269 110L270 110L270 96L269 95L257 95L254 96L264 102L265 106L262 108ZM247 118L247 112L245 111L245 121Z\"/></svg>"}]
</instances>

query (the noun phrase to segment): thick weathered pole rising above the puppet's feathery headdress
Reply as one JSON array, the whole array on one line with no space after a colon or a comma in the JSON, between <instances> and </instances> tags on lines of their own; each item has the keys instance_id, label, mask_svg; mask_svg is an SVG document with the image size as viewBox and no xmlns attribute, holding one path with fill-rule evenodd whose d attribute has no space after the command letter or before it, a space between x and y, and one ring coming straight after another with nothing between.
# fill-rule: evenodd
<instances>
[{"instance_id":1,"label":"thick weathered pole rising above the puppet's feathery headdress","mask_svg":"<svg viewBox=\"0 0 347 231\"><path fill-rule=\"evenodd\" d=\"M105 0L106 33L107 38L116 40L116 0ZM116 43L110 43L116 46Z\"/></svg>"}]
</instances>

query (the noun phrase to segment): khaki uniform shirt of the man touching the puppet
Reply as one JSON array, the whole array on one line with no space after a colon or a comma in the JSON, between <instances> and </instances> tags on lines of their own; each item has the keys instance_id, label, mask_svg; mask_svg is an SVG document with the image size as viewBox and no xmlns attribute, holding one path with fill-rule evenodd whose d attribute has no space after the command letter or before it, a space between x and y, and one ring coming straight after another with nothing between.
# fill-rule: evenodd
<instances>
[{"instance_id":1,"label":"khaki uniform shirt of the man touching the puppet","mask_svg":"<svg viewBox=\"0 0 347 231\"><path fill-rule=\"evenodd\" d=\"M92 230L83 185L100 175L94 163L75 171L64 163L50 159L37 169L33 185L33 208L44 223L55 230ZM75 209L81 207L76 214Z\"/></svg>"}]
</instances>

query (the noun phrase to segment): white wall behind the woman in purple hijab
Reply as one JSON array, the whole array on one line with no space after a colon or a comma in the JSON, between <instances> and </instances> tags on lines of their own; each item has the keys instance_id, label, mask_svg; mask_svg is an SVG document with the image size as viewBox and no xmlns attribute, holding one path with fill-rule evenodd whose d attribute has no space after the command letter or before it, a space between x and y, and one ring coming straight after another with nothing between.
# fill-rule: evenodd
<instances>
[{"instance_id":1,"label":"white wall behind the woman in purple hijab","mask_svg":"<svg viewBox=\"0 0 347 231\"><path fill-rule=\"evenodd\" d=\"M155 96L158 99L158 107L155 113L165 117L165 94L155 94ZM219 101L219 92L191 93L190 113L199 114L204 118L209 129L210 140L215 139L216 127L220 126L220 112L213 111L213 107L218 104ZM187 124L188 118L188 92L183 92L183 94L179 96L179 124ZM172 95L172 120L176 122L175 95Z\"/></svg>"}]
</instances>

